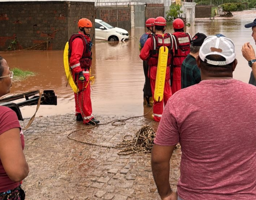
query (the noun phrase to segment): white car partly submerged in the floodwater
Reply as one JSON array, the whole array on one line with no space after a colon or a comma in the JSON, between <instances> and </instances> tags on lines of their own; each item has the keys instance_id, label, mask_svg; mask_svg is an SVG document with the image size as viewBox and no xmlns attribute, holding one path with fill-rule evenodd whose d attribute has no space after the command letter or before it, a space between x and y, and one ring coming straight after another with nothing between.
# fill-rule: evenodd
<instances>
[{"instance_id":1,"label":"white car partly submerged in the floodwater","mask_svg":"<svg viewBox=\"0 0 256 200\"><path fill-rule=\"evenodd\" d=\"M129 39L129 32L122 28L113 27L100 19L95 19L95 39L125 41Z\"/></svg>"}]
</instances>

